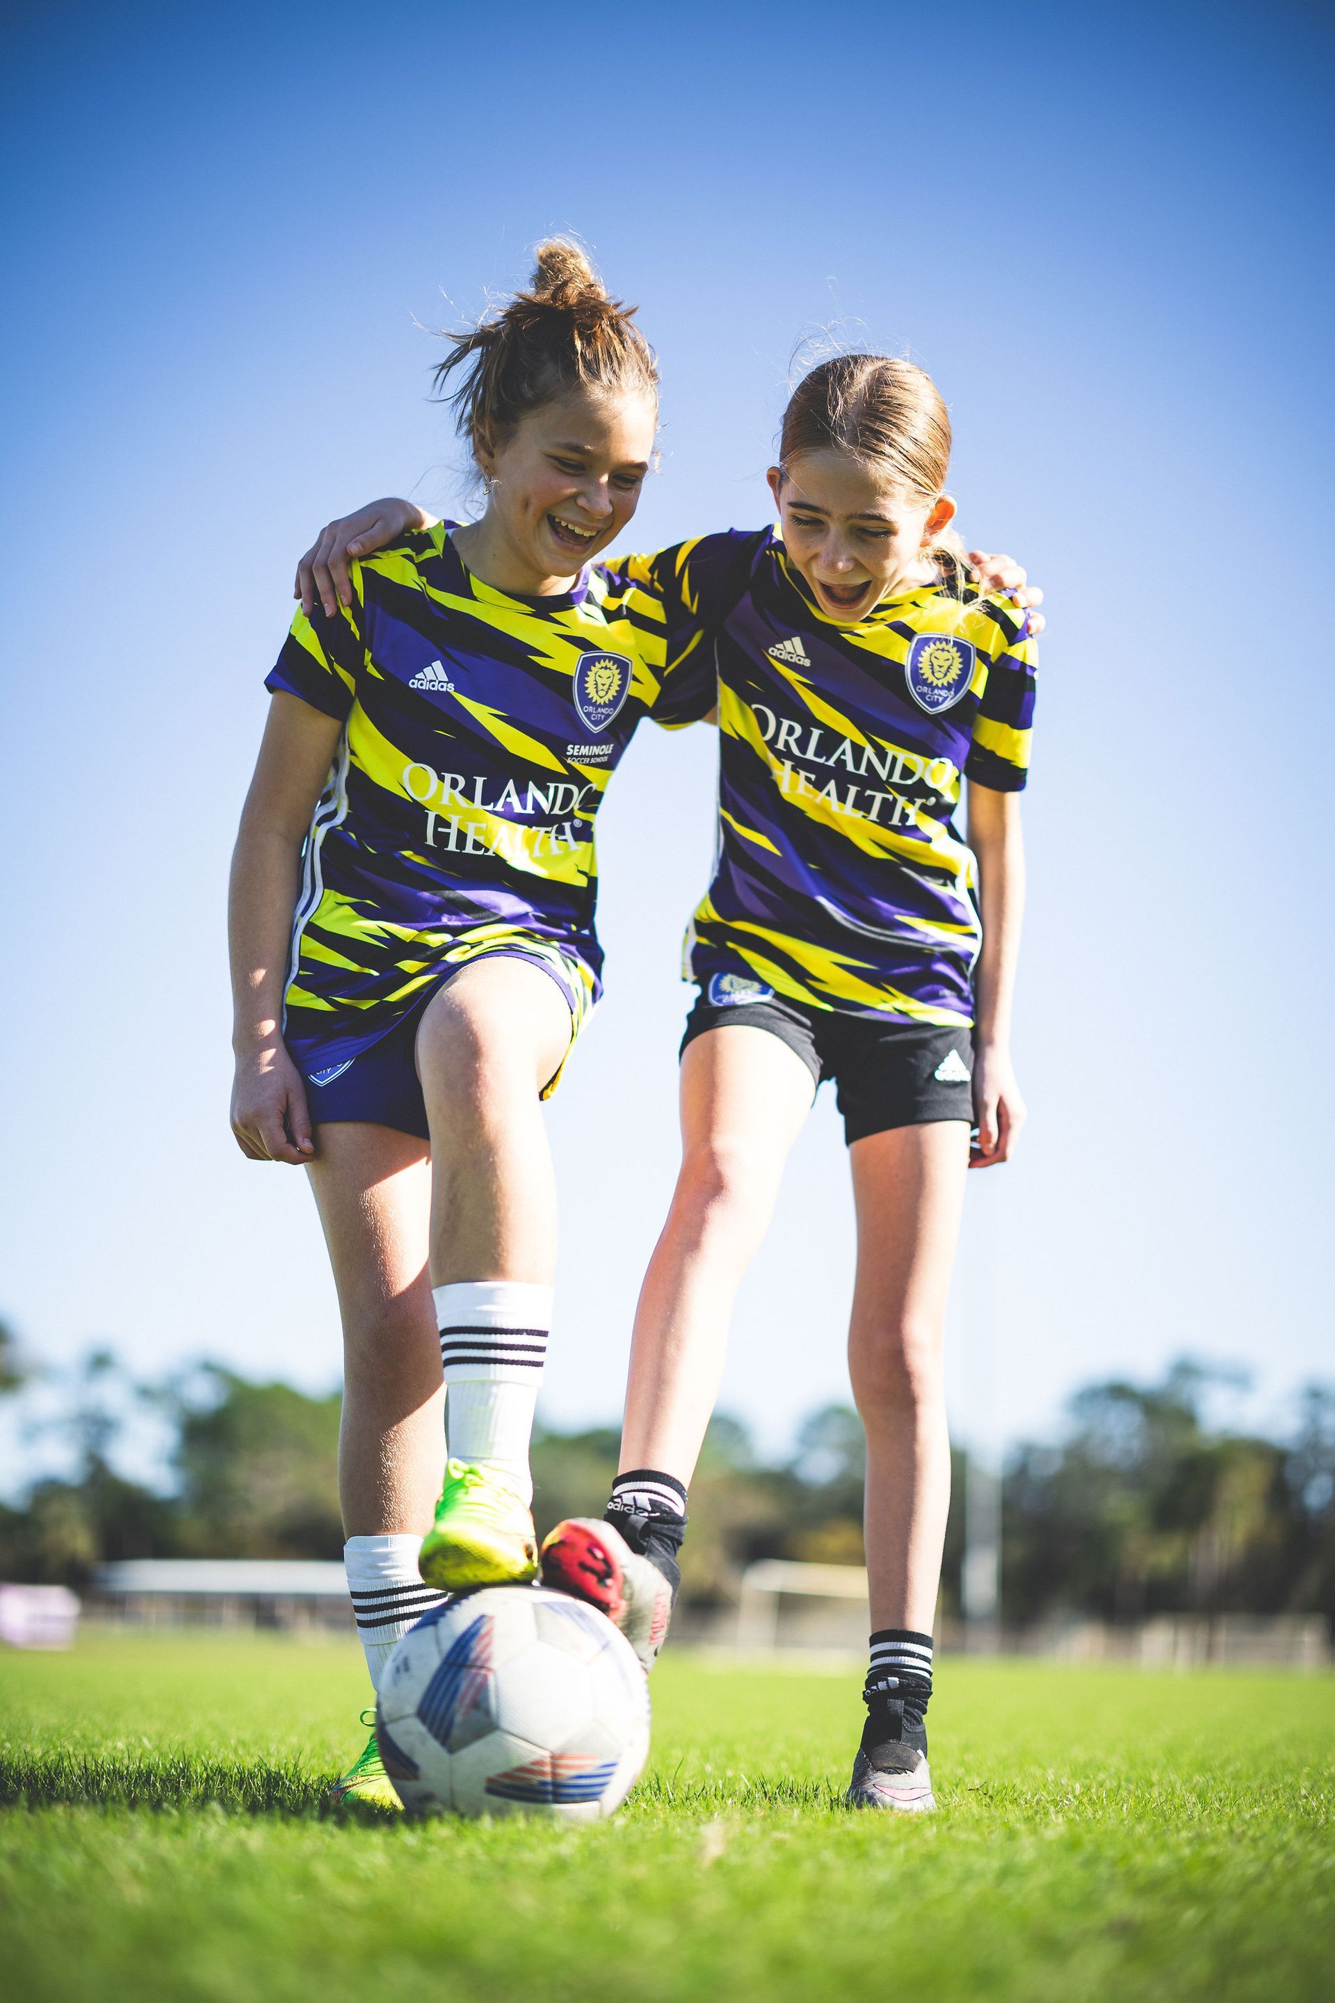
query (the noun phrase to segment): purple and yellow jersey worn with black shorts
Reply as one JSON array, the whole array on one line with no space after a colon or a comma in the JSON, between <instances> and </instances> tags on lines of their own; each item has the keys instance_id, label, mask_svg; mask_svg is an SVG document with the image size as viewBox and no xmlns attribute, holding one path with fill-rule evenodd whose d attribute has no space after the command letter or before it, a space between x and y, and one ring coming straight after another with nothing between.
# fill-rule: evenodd
<instances>
[{"instance_id":1,"label":"purple and yellow jersey worn with black shorts","mask_svg":"<svg viewBox=\"0 0 1335 2003\"><path fill-rule=\"evenodd\" d=\"M775 529L703 537L628 571L681 579L719 663L719 849L687 933L711 1002L973 1022L977 869L961 781L1025 785L1035 643L963 585L813 603Z\"/></svg>"}]
</instances>

